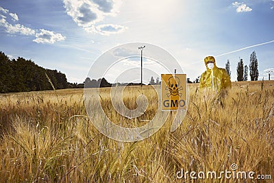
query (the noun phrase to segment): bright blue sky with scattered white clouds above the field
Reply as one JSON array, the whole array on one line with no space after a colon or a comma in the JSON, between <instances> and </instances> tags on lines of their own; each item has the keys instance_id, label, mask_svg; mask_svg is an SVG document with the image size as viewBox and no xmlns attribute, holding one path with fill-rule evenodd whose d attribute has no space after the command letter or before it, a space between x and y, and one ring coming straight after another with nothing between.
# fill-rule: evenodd
<instances>
[{"instance_id":1,"label":"bright blue sky with scattered white clouds above the field","mask_svg":"<svg viewBox=\"0 0 274 183\"><path fill-rule=\"evenodd\" d=\"M10 58L21 56L57 69L66 73L69 82L77 83L84 81L104 51L127 42L166 49L190 80L201 75L206 69L203 58L212 55L217 56L219 67L225 67L229 59L235 81L239 57L249 65L250 54L256 51L259 78L266 79L264 70L274 68L273 31L273 0L0 1L0 50ZM268 43L258 45L264 42ZM146 56L145 49L143 53ZM228 54L220 56L223 53ZM148 68L157 69L147 63ZM138 60L134 62L139 65ZM109 75L106 79L113 82L116 76Z\"/></svg>"}]
</instances>

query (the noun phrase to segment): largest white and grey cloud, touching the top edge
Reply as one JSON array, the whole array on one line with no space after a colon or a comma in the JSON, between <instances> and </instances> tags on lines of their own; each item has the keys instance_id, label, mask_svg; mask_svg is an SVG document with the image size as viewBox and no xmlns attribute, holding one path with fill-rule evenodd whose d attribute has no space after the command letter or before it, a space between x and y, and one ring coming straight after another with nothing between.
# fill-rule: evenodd
<instances>
[{"instance_id":1,"label":"largest white and grey cloud, touching the top edge","mask_svg":"<svg viewBox=\"0 0 274 183\"><path fill-rule=\"evenodd\" d=\"M66 13L86 32L110 35L121 33L126 29L122 25L96 25L103 21L105 16L116 16L121 5L120 0L63 0L63 3Z\"/></svg>"}]
</instances>

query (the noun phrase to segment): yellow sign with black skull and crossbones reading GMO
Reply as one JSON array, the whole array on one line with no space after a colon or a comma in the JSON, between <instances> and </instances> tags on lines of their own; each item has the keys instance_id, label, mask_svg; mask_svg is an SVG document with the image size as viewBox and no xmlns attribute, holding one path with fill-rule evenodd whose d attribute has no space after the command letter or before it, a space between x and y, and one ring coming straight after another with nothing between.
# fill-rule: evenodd
<instances>
[{"instance_id":1,"label":"yellow sign with black skull and crossbones reading GMO","mask_svg":"<svg viewBox=\"0 0 274 183\"><path fill-rule=\"evenodd\" d=\"M186 110L186 74L161 74L162 110Z\"/></svg>"}]
</instances>

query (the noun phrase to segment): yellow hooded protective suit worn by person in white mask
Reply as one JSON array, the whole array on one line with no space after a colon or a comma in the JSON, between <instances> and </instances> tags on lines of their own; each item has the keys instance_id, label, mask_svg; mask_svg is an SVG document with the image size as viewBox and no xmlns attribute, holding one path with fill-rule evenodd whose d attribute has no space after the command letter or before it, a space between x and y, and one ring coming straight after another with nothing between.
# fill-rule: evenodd
<instances>
[{"instance_id":1,"label":"yellow hooded protective suit worn by person in white mask","mask_svg":"<svg viewBox=\"0 0 274 183\"><path fill-rule=\"evenodd\" d=\"M208 68L208 62L214 62L213 69ZM204 59L206 64L206 71L201 74L200 88L212 88L215 91L220 92L223 89L232 87L230 77L227 71L223 68L218 68L213 56L208 56Z\"/></svg>"}]
</instances>

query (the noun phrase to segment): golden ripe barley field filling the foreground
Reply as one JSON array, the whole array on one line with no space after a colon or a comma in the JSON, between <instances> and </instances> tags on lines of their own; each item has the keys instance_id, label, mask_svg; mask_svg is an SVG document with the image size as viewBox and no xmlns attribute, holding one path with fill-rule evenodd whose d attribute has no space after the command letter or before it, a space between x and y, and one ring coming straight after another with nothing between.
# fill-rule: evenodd
<instances>
[{"instance_id":1,"label":"golden ripe barley field filling the foreground","mask_svg":"<svg viewBox=\"0 0 274 183\"><path fill-rule=\"evenodd\" d=\"M234 82L226 97L188 87L182 125L170 132L171 114L153 136L133 143L114 141L92 125L83 89L1 94L0 182L259 182L257 175L273 182L274 82ZM123 126L144 125L155 115L151 86L143 87L147 111L134 121L115 112L109 88L101 92L103 110ZM127 108L136 108L138 94L138 86L124 90ZM253 171L253 179L190 178L191 171L219 176L232 164ZM178 178L182 170L186 178Z\"/></svg>"}]
</instances>

